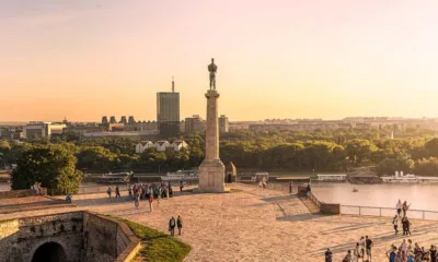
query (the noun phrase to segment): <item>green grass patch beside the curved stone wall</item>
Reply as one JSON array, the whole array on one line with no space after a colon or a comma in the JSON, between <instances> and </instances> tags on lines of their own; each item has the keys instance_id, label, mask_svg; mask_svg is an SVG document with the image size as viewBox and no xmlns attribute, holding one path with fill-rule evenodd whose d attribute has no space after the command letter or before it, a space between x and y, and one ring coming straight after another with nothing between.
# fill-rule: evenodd
<instances>
[{"instance_id":1,"label":"green grass patch beside the curved stone wall","mask_svg":"<svg viewBox=\"0 0 438 262\"><path fill-rule=\"evenodd\" d=\"M107 216L112 219L125 223L141 241L146 242L145 247L139 252L139 257L142 258L143 261L178 262L183 261L192 250L191 246L168 234L128 219Z\"/></svg>"}]
</instances>

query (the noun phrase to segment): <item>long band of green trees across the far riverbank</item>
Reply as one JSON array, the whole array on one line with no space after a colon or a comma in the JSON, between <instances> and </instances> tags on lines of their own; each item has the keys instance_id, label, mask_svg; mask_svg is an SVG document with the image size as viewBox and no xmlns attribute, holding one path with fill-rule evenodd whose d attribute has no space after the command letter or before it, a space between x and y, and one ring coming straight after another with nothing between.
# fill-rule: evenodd
<instances>
[{"instance_id":1,"label":"long band of green trees across the far riverbank","mask_svg":"<svg viewBox=\"0 0 438 262\"><path fill-rule=\"evenodd\" d=\"M397 139L390 139L391 131ZM438 175L438 139L434 139L434 135L433 130L396 130L394 127L314 132L230 132L220 138L220 157L224 163L233 162L238 169L323 172L376 166L379 175L403 170L431 176ZM24 152L34 146L56 144L76 157L76 167L83 172L166 172L199 166L205 154L204 134L169 140L175 139L184 139L189 148L163 153L148 150L136 154L135 146L139 140L80 141L71 134L65 134L50 141L0 141L0 157L4 163L15 164Z\"/></svg>"}]
</instances>

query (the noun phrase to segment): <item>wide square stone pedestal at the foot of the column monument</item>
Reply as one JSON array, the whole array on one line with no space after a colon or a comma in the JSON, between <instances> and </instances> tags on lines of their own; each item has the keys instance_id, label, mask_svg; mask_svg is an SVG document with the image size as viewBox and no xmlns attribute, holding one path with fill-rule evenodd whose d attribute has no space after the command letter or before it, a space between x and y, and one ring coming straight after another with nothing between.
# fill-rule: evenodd
<instances>
[{"instance_id":1,"label":"wide square stone pedestal at the foot of the column monument","mask_svg":"<svg viewBox=\"0 0 438 262\"><path fill-rule=\"evenodd\" d=\"M199 166L199 193L223 193L227 192L226 167L220 159L204 160Z\"/></svg>"}]
</instances>

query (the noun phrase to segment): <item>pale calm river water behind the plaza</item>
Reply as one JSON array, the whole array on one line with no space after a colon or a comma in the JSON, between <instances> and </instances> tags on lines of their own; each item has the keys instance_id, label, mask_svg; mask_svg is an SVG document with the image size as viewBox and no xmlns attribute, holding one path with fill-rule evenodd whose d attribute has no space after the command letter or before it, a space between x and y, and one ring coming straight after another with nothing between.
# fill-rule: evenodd
<instances>
[{"instance_id":1,"label":"pale calm river water behind the plaza","mask_svg":"<svg viewBox=\"0 0 438 262\"><path fill-rule=\"evenodd\" d=\"M83 186L93 184L95 183ZM357 189L358 192L353 192L353 189ZM8 190L9 183L0 183L0 191ZM312 192L320 201L327 203L394 209L400 199L406 200L411 210L438 211L438 183L318 183L313 184Z\"/></svg>"}]
</instances>

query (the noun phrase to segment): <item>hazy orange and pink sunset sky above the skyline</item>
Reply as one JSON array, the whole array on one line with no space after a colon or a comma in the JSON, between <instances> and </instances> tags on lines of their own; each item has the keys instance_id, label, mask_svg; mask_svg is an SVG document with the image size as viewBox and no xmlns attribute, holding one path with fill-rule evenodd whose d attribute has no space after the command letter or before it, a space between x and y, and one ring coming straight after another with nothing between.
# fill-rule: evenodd
<instances>
[{"instance_id":1,"label":"hazy orange and pink sunset sky above the skyline","mask_svg":"<svg viewBox=\"0 0 438 262\"><path fill-rule=\"evenodd\" d=\"M0 121L438 116L437 0L0 0Z\"/></svg>"}]
</instances>

